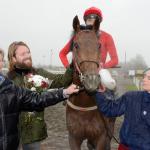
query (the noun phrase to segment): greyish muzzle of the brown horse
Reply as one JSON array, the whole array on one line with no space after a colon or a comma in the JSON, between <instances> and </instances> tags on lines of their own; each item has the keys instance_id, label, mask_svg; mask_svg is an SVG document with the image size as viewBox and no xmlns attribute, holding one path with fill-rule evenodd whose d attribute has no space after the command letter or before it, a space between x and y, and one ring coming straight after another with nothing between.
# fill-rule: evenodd
<instances>
[{"instance_id":1,"label":"greyish muzzle of the brown horse","mask_svg":"<svg viewBox=\"0 0 150 150\"><path fill-rule=\"evenodd\" d=\"M99 75L84 75L82 77L82 84L85 87L86 91L89 93L95 92L100 84L100 76Z\"/></svg>"}]
</instances>

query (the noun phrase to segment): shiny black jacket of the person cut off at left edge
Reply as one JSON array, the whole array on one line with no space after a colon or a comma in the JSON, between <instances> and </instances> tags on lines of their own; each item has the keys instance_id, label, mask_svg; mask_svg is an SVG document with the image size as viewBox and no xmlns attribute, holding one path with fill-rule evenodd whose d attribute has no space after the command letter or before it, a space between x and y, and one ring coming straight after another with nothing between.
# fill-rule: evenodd
<instances>
[{"instance_id":1,"label":"shiny black jacket of the person cut off at left edge","mask_svg":"<svg viewBox=\"0 0 150 150\"><path fill-rule=\"evenodd\" d=\"M17 150L21 111L41 111L64 100L63 89L41 95L15 86L0 74L0 150Z\"/></svg>"}]
</instances>

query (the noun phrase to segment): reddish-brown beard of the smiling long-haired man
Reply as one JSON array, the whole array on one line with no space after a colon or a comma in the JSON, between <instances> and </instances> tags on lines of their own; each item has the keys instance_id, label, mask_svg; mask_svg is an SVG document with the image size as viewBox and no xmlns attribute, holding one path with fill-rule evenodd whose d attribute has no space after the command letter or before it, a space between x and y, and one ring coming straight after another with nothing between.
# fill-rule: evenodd
<instances>
[{"instance_id":1,"label":"reddish-brown beard of the smiling long-haired man","mask_svg":"<svg viewBox=\"0 0 150 150\"><path fill-rule=\"evenodd\" d=\"M22 61L22 63L17 62L15 64L15 66L20 69L31 69L32 68L32 60L31 60L31 58L25 59Z\"/></svg>"}]
</instances>

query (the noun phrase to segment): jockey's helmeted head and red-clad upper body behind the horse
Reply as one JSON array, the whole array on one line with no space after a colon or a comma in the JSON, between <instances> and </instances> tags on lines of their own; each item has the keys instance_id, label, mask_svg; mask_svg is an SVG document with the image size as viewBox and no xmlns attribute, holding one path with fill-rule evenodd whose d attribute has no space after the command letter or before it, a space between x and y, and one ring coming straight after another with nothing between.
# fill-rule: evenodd
<instances>
[{"instance_id":1,"label":"jockey's helmeted head and red-clad upper body behind the horse","mask_svg":"<svg viewBox=\"0 0 150 150\"><path fill-rule=\"evenodd\" d=\"M103 20L102 12L100 9L96 7L91 7L85 10L83 19L86 25L93 25L96 17L99 18L100 23ZM116 51L116 47L113 41L113 38L110 34L105 31L98 31L99 43L101 44L101 60L100 65L101 68L111 68L115 67L118 64L118 55ZM69 61L67 59L67 54L73 49L73 39L74 36L69 40L69 42L64 46L64 48L60 51L59 57L64 67L67 69L66 72L72 71ZM110 60L106 61L107 55L110 56ZM70 71L69 71L70 70ZM101 75L101 73L100 73Z\"/></svg>"}]
</instances>

